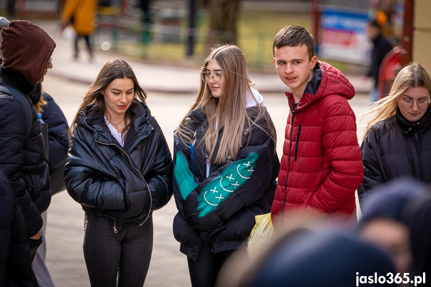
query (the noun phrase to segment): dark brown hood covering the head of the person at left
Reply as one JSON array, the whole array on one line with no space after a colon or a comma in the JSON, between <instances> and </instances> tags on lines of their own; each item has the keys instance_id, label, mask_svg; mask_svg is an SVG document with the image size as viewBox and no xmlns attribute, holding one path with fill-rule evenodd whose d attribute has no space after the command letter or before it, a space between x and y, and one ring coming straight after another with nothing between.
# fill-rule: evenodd
<instances>
[{"instance_id":1,"label":"dark brown hood covering the head of the person at left","mask_svg":"<svg viewBox=\"0 0 431 287\"><path fill-rule=\"evenodd\" d=\"M54 48L54 40L29 21L10 21L7 28L1 29L3 66L18 73L32 86L42 78Z\"/></svg>"}]
</instances>

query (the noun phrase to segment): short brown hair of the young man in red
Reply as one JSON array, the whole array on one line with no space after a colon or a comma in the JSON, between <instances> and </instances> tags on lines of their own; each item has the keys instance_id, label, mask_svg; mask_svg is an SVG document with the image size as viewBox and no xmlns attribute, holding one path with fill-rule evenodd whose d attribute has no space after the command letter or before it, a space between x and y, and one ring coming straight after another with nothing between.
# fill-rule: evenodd
<instances>
[{"instance_id":1,"label":"short brown hair of the young man in red","mask_svg":"<svg viewBox=\"0 0 431 287\"><path fill-rule=\"evenodd\" d=\"M283 46L296 47L306 45L308 55L311 58L314 56L314 38L310 32L302 26L286 26L281 29L274 38L272 45L272 53L275 56L275 48L279 49Z\"/></svg>"}]
</instances>

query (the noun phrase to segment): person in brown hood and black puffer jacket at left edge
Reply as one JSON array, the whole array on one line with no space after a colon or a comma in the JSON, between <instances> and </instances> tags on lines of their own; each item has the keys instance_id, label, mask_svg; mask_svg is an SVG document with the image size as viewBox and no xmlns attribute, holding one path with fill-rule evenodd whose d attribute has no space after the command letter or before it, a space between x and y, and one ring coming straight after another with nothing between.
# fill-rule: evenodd
<instances>
[{"instance_id":1,"label":"person in brown hood and black puffer jacket at left edge","mask_svg":"<svg viewBox=\"0 0 431 287\"><path fill-rule=\"evenodd\" d=\"M54 48L51 37L28 21L10 21L1 29L0 89L8 91L0 91L0 170L24 217L32 257L42 242L40 214L51 193L43 136L28 94L52 68Z\"/></svg>"}]
</instances>

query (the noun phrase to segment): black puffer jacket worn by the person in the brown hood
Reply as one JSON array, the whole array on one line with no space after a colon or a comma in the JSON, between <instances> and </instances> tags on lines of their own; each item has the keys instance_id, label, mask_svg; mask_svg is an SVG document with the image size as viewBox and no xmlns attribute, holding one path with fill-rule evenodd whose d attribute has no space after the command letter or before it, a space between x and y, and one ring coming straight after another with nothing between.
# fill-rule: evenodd
<instances>
[{"instance_id":1,"label":"black puffer jacket worn by the person in the brown hood","mask_svg":"<svg viewBox=\"0 0 431 287\"><path fill-rule=\"evenodd\" d=\"M34 86L17 73L0 66L0 85L11 86L28 95ZM31 101L28 98L29 105ZM51 202L48 164L36 110L31 105L32 121L28 138L24 108L15 97L0 92L0 169L12 187L22 211L27 236L42 227L40 213Z\"/></svg>"}]
</instances>

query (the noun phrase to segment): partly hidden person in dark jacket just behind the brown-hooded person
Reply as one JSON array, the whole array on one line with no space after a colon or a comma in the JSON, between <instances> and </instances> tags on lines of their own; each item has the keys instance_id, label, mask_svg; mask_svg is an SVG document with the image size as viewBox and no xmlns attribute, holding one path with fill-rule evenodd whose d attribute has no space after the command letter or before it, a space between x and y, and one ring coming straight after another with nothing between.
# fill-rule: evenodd
<instances>
[{"instance_id":1,"label":"partly hidden person in dark jacket just behind the brown-hooded person","mask_svg":"<svg viewBox=\"0 0 431 287\"><path fill-rule=\"evenodd\" d=\"M63 168L67 160L67 150L69 149L69 140L67 132L69 126L66 118L58 105L51 96L42 91L41 83L36 84L36 88L29 94L30 100L34 105L36 112L40 114L40 119L48 125L48 167L49 178L51 183L51 195L63 191L66 187L64 184ZM42 213L43 225L40 229L41 236L44 237L47 212ZM44 240L37 249L36 256L31 264L34 275L39 287L54 287L49 271L45 265L46 241Z\"/></svg>"}]
</instances>

